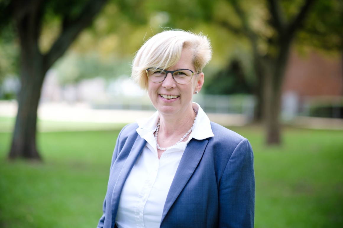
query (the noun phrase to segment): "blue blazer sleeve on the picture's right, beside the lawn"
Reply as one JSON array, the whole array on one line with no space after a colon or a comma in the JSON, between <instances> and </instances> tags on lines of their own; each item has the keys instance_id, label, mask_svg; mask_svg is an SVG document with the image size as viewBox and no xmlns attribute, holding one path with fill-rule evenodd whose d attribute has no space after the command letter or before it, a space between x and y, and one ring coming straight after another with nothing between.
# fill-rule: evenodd
<instances>
[{"instance_id":1,"label":"blue blazer sleeve on the picture's right, beside the lawn","mask_svg":"<svg viewBox=\"0 0 343 228\"><path fill-rule=\"evenodd\" d=\"M255 174L253 152L247 139L241 140L230 156L219 183L218 227L253 227L255 216Z\"/></svg>"}]
</instances>

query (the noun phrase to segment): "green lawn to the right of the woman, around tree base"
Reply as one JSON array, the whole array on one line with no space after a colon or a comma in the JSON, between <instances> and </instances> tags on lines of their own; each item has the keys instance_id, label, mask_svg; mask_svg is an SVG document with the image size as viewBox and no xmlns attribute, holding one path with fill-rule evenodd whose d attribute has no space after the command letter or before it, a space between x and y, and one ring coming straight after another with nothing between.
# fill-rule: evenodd
<instances>
[{"instance_id":1,"label":"green lawn to the right of the woman, around tree base","mask_svg":"<svg viewBox=\"0 0 343 228\"><path fill-rule=\"evenodd\" d=\"M255 154L255 227L343 227L343 131L286 128L266 148L259 128L234 130Z\"/></svg>"}]
</instances>

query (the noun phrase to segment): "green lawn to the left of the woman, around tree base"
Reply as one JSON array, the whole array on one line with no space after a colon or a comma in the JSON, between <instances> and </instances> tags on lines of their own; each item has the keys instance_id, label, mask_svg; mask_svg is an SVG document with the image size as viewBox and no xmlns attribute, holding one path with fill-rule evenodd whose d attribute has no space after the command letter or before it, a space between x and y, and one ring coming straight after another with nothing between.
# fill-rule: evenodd
<instances>
[{"instance_id":1,"label":"green lawn to the left of the woman, around tree base","mask_svg":"<svg viewBox=\"0 0 343 228\"><path fill-rule=\"evenodd\" d=\"M5 160L0 133L0 227L96 227L118 131L38 134L44 163Z\"/></svg>"}]
</instances>

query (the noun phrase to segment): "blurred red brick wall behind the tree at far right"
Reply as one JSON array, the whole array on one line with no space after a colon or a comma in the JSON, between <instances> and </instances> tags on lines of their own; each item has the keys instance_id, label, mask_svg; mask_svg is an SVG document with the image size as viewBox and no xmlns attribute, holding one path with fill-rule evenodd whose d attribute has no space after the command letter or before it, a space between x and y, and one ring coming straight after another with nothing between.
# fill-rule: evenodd
<instances>
[{"instance_id":1,"label":"blurred red brick wall behind the tree at far right","mask_svg":"<svg viewBox=\"0 0 343 228\"><path fill-rule=\"evenodd\" d=\"M291 52L283 84L283 92L289 91L299 96L343 96L342 55Z\"/></svg>"}]
</instances>

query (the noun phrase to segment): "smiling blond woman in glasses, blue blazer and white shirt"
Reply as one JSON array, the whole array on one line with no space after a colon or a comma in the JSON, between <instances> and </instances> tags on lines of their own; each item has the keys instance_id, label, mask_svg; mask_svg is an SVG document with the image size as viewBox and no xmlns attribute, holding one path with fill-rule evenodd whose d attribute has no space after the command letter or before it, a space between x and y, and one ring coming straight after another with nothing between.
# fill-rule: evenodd
<instances>
[{"instance_id":1,"label":"smiling blond woman in glasses, blue blazer and white shirt","mask_svg":"<svg viewBox=\"0 0 343 228\"><path fill-rule=\"evenodd\" d=\"M157 112L121 130L98 227L253 227L251 145L192 102L211 55L205 36L181 30L137 52L131 77Z\"/></svg>"}]
</instances>

